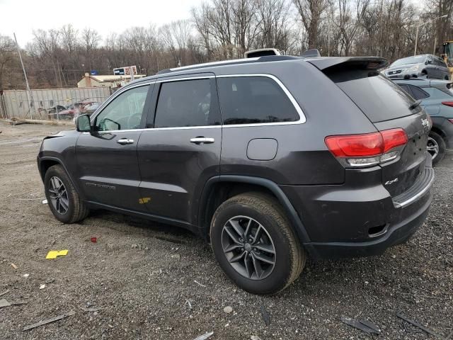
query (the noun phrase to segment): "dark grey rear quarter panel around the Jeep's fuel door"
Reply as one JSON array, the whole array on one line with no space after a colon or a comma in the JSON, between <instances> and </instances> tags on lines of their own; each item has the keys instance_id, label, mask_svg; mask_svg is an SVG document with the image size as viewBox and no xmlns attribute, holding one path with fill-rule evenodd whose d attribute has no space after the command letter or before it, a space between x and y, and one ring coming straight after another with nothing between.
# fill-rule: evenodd
<instances>
[{"instance_id":1,"label":"dark grey rear quarter panel around the Jeep's fuel door","mask_svg":"<svg viewBox=\"0 0 453 340\"><path fill-rule=\"evenodd\" d=\"M221 174L259 176L278 184L343 183L345 170L328 151L324 138L376 131L350 98L304 60L222 67L217 75L240 73L273 74L280 79L299 103L306 122L224 127ZM254 138L277 140L275 158L270 161L248 159L247 145Z\"/></svg>"}]
</instances>

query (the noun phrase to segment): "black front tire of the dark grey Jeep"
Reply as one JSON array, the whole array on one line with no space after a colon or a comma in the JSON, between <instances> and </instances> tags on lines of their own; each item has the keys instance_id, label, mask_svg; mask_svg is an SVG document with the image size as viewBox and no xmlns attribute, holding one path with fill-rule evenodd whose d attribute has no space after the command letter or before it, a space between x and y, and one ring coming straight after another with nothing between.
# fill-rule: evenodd
<instances>
[{"instance_id":1,"label":"black front tire of the dark grey Jeep","mask_svg":"<svg viewBox=\"0 0 453 340\"><path fill-rule=\"evenodd\" d=\"M55 194L51 180L61 181L63 185L62 188L66 192L63 196L64 205L62 205L62 203L55 203L55 196L58 196L58 194ZM69 176L61 165L54 165L47 169L44 177L44 191L50 211L52 211L52 214L54 214L55 218L60 222L71 224L84 220L84 218L88 216L89 210L86 208L86 204L80 199L79 193L77 193L72 185L71 179L69 179ZM62 202L61 197L57 200ZM64 212L65 208L67 209Z\"/></svg>"}]
</instances>

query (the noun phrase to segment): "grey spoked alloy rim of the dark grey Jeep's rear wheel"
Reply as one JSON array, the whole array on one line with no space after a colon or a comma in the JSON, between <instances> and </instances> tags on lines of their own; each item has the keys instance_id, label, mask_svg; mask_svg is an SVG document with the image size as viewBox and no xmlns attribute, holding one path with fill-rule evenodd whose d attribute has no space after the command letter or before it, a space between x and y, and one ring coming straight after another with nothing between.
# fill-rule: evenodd
<instances>
[{"instance_id":1,"label":"grey spoked alloy rim of the dark grey Jeep's rear wheel","mask_svg":"<svg viewBox=\"0 0 453 340\"><path fill-rule=\"evenodd\" d=\"M247 216L229 219L222 229L222 248L236 272L251 280L262 280L275 267L275 246L268 231Z\"/></svg>"}]
</instances>

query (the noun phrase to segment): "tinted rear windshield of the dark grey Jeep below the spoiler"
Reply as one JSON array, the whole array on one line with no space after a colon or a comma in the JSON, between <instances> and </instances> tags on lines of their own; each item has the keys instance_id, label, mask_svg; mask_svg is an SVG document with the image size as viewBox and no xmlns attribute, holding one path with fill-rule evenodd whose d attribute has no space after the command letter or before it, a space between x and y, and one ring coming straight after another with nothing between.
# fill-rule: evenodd
<instances>
[{"instance_id":1,"label":"tinted rear windshield of the dark grey Jeep below the spoiler","mask_svg":"<svg viewBox=\"0 0 453 340\"><path fill-rule=\"evenodd\" d=\"M411 115L414 102L393 81L377 72L357 70L326 74L355 102L372 123Z\"/></svg>"}]
</instances>

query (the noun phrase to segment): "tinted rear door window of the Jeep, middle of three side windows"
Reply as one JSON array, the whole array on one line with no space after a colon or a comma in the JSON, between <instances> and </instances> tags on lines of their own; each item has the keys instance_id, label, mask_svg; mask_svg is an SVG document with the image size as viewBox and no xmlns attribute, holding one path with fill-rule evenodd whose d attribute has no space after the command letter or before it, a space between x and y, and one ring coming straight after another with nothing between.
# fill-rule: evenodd
<instances>
[{"instance_id":1,"label":"tinted rear door window of the Jeep, middle of three side windows","mask_svg":"<svg viewBox=\"0 0 453 340\"><path fill-rule=\"evenodd\" d=\"M161 85L154 128L219 125L210 79L169 81Z\"/></svg>"}]
</instances>

